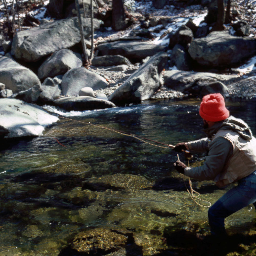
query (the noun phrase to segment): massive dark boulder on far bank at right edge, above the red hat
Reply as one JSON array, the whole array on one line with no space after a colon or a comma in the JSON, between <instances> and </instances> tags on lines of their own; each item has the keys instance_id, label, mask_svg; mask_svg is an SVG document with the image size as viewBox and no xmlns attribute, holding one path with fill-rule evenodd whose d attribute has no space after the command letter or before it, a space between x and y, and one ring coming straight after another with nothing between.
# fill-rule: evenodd
<instances>
[{"instance_id":1,"label":"massive dark boulder on far bank at right edge, above the red hat","mask_svg":"<svg viewBox=\"0 0 256 256\"><path fill-rule=\"evenodd\" d=\"M208 36L194 39L188 52L200 65L232 66L255 55L255 39L237 37L229 31L213 31Z\"/></svg>"}]
</instances>

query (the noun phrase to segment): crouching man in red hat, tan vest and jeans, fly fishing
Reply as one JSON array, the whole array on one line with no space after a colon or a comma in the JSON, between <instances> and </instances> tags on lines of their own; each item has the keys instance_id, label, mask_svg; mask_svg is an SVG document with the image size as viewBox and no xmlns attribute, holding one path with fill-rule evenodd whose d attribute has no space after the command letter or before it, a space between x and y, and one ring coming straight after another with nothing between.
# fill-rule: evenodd
<instances>
[{"instance_id":1,"label":"crouching man in red hat, tan vest and jeans, fly fishing","mask_svg":"<svg viewBox=\"0 0 256 256\"><path fill-rule=\"evenodd\" d=\"M211 234L227 236L224 219L234 212L254 204L256 208L256 139L250 127L230 115L220 93L208 94L200 104L199 115L204 121L206 138L178 143L174 150L207 152L202 166L187 167L176 161L175 169L197 180L214 180L218 187L238 181L208 210Z\"/></svg>"}]
</instances>

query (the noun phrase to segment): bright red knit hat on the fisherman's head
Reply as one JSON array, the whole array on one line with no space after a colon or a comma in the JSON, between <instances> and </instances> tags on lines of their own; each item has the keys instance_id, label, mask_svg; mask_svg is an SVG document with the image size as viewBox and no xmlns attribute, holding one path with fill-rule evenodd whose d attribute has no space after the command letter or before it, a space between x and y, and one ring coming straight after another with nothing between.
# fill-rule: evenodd
<instances>
[{"instance_id":1,"label":"bright red knit hat on the fisherman's head","mask_svg":"<svg viewBox=\"0 0 256 256\"><path fill-rule=\"evenodd\" d=\"M202 119L211 122L218 122L229 117L229 111L220 93L207 94L203 97L199 108L199 115Z\"/></svg>"}]
</instances>

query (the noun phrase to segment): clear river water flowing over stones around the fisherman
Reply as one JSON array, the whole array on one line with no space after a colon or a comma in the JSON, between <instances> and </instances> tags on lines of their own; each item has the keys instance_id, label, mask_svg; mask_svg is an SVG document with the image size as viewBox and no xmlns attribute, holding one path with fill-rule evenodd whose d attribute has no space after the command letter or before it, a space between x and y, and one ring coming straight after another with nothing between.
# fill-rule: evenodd
<instances>
[{"instance_id":1,"label":"clear river water flowing over stones around the fisherman","mask_svg":"<svg viewBox=\"0 0 256 256\"><path fill-rule=\"evenodd\" d=\"M176 144L204 136L199 104L197 99L145 101L68 113L44 106L75 121L61 119L41 137L2 145L0 256L205 255L196 233L209 236L208 208L190 198L173 168L177 154L81 123ZM255 99L226 104L255 136ZM195 154L190 164L201 164L204 157ZM193 180L199 198L212 204L231 186ZM226 228L241 241L218 255L253 255L254 207L228 217Z\"/></svg>"}]
</instances>

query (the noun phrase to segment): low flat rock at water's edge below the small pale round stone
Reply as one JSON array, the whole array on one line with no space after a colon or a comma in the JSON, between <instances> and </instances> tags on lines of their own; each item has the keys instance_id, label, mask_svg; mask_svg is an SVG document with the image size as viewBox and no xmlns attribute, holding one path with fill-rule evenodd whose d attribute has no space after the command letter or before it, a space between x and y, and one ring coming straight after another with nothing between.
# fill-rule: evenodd
<instances>
[{"instance_id":1,"label":"low flat rock at water's edge below the small pale round stone","mask_svg":"<svg viewBox=\"0 0 256 256\"><path fill-rule=\"evenodd\" d=\"M54 103L66 111L83 111L115 107L115 104L108 100L97 99L90 96L61 98L55 100Z\"/></svg>"}]
</instances>

